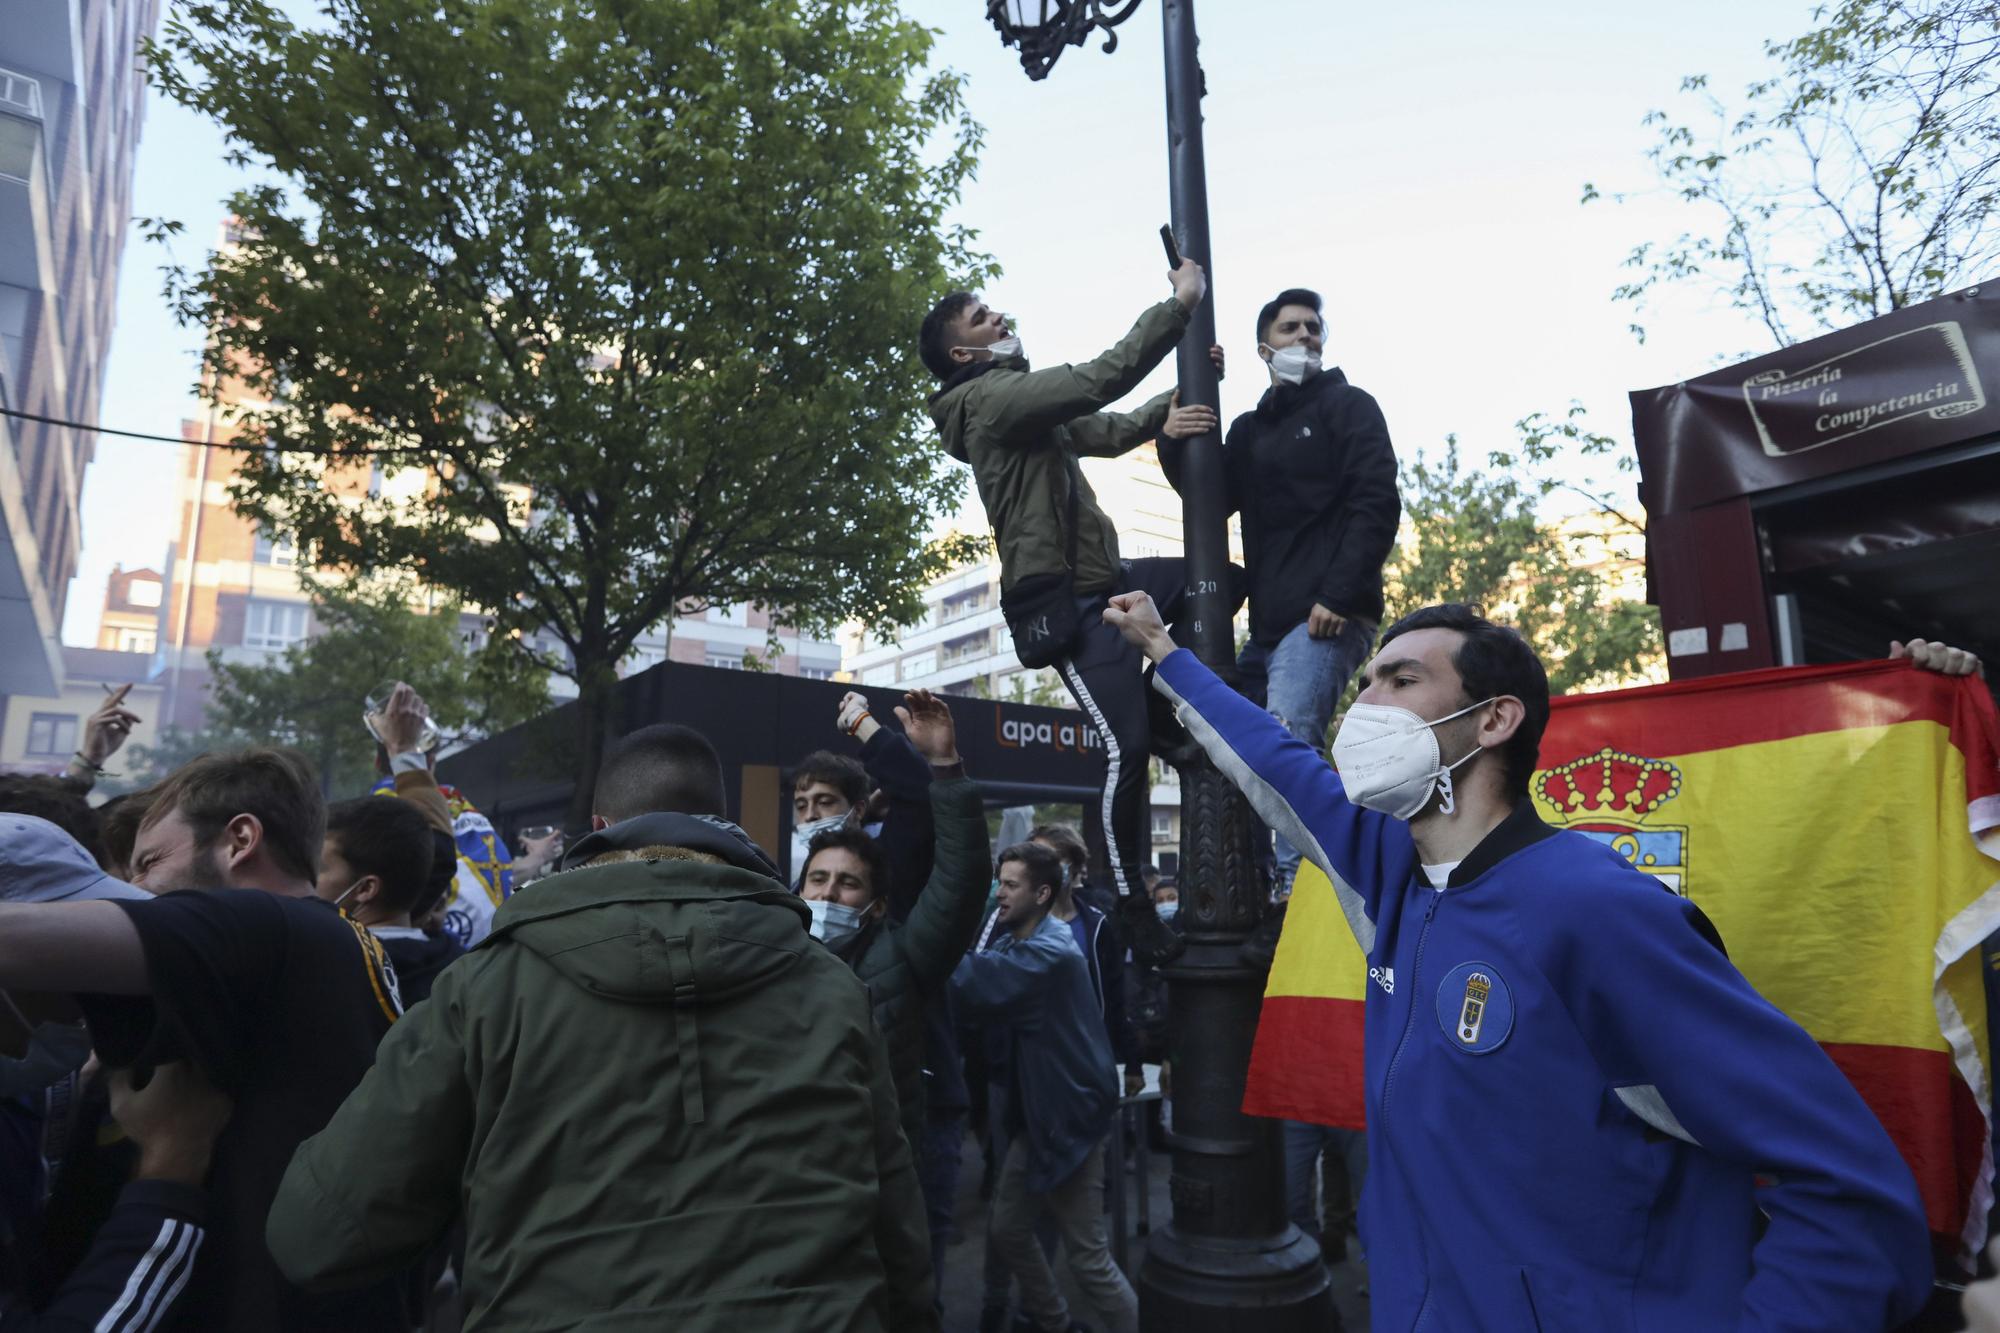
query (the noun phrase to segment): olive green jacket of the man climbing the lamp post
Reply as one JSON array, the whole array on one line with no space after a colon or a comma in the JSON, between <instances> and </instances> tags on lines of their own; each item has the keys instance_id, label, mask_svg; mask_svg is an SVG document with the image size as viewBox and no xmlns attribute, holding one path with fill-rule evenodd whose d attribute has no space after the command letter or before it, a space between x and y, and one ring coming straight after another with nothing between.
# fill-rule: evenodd
<instances>
[{"instance_id":1,"label":"olive green jacket of the man climbing the lamp post","mask_svg":"<svg viewBox=\"0 0 2000 1333\"><path fill-rule=\"evenodd\" d=\"M1118 584L1118 528L1098 508L1076 458L1112 458L1160 434L1172 392L1136 412L1104 408L1132 392L1188 330L1176 298L1138 316L1114 348L1078 366L1030 370L1012 356L966 366L930 398L944 452L972 464L1000 548L1000 588L1028 574L1060 574L1068 546L1068 488L1076 482L1076 590Z\"/></svg>"}]
</instances>

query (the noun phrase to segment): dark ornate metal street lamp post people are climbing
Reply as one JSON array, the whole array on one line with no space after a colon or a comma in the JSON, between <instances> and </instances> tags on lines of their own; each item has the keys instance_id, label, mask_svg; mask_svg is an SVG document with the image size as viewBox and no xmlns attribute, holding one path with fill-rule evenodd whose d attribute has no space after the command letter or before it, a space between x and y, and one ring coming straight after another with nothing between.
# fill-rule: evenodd
<instances>
[{"instance_id":1,"label":"dark ornate metal street lamp post people are climbing","mask_svg":"<svg viewBox=\"0 0 2000 1333\"><path fill-rule=\"evenodd\" d=\"M1104 50L1140 0L988 0L1000 38L1020 48L1028 78L1046 78L1070 46L1098 30ZM1220 408L1208 174L1202 162L1202 68L1194 0L1160 0L1166 36L1166 140L1174 236L1210 274L1180 342L1180 400ZM1228 512L1222 440L1182 452L1186 612L1176 634L1234 679ZM1340 1327L1320 1249L1286 1219L1278 1125L1242 1113L1244 1075L1264 995L1264 969L1244 941L1264 917L1256 839L1262 825L1200 747L1170 755L1180 771L1180 921L1188 951L1164 971L1174 1065L1174 1219L1156 1231L1140 1269L1146 1333L1326 1333Z\"/></svg>"}]
</instances>

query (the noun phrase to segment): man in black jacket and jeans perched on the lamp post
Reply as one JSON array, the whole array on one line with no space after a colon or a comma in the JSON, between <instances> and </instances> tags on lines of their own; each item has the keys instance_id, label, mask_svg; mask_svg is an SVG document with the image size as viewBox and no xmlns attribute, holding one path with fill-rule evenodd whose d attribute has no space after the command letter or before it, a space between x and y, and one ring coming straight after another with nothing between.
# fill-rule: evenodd
<instances>
[{"instance_id":1,"label":"man in black jacket and jeans perched on the lamp post","mask_svg":"<svg viewBox=\"0 0 2000 1333\"><path fill-rule=\"evenodd\" d=\"M1278 292L1258 310L1256 346L1270 388L1222 440L1228 510L1242 514L1250 640L1240 689L1306 745L1326 753L1326 725L1382 620L1382 562L1396 544L1402 500L1382 408L1320 368L1320 294ZM1180 488L1180 440L1160 440L1160 466ZM1278 895L1292 891L1298 851L1278 837Z\"/></svg>"}]
</instances>

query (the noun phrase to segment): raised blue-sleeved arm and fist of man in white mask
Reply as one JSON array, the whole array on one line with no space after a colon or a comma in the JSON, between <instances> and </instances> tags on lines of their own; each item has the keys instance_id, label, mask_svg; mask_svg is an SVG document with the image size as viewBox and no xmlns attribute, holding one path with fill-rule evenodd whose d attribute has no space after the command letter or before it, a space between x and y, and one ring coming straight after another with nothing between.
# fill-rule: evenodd
<instances>
[{"instance_id":1,"label":"raised blue-sleeved arm and fist of man in white mask","mask_svg":"<svg viewBox=\"0 0 2000 1333\"><path fill-rule=\"evenodd\" d=\"M1350 805L1318 751L1174 644L1150 596L1120 592L1104 620L1158 662L1154 689L1258 817L1326 871L1354 939L1372 953L1384 891L1416 871L1408 825Z\"/></svg>"}]
</instances>

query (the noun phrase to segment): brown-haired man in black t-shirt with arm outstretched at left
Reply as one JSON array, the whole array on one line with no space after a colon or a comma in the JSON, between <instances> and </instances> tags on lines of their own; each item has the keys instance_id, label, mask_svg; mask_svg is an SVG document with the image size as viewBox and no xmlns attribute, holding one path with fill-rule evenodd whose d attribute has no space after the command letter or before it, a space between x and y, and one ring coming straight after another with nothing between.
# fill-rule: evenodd
<instances>
[{"instance_id":1,"label":"brown-haired man in black t-shirt with arm outstretched at left","mask_svg":"<svg viewBox=\"0 0 2000 1333\"><path fill-rule=\"evenodd\" d=\"M236 1103L210 1173L212 1227L172 1329L402 1333L392 1283L312 1297L264 1247L284 1163L326 1123L396 1021L394 973L362 927L314 897L326 807L292 751L210 753L154 789L112 903L0 903L0 987L78 993L110 1069L176 1059ZM112 887L58 847L0 827L8 877Z\"/></svg>"}]
</instances>

